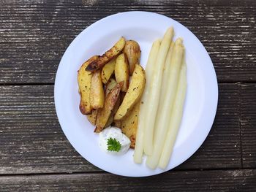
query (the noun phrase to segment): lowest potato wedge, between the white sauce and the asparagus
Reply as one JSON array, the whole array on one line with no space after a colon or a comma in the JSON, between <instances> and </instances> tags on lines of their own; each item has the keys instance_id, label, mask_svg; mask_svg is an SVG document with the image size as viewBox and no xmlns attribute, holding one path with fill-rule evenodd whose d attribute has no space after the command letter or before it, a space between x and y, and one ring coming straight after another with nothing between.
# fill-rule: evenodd
<instances>
[{"instance_id":1,"label":"lowest potato wedge, between the white sauce and the asparagus","mask_svg":"<svg viewBox=\"0 0 256 192\"><path fill-rule=\"evenodd\" d=\"M138 101L137 104L135 104L135 106L132 108L132 111L129 112L127 117L121 121L121 131L130 139L130 147L133 149L135 148L136 142L139 110L140 102Z\"/></svg>"}]
</instances>

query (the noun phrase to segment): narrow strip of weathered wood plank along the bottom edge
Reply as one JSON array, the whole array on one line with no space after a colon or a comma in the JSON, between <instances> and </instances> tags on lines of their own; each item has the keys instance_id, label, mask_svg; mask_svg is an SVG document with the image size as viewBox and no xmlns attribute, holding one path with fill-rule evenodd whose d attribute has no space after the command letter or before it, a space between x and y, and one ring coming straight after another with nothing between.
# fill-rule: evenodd
<instances>
[{"instance_id":1,"label":"narrow strip of weathered wood plank along the bottom edge","mask_svg":"<svg viewBox=\"0 0 256 192\"><path fill-rule=\"evenodd\" d=\"M167 172L153 177L50 174L0 177L1 191L255 191L255 169Z\"/></svg>"}]
</instances>

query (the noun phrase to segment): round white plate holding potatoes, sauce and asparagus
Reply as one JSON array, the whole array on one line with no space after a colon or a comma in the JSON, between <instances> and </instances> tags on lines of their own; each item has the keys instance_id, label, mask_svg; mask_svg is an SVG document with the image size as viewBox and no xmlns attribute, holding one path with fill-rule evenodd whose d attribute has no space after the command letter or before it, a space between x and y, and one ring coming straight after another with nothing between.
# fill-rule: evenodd
<instances>
[{"instance_id":1,"label":"round white plate holding potatoes, sauce and asparagus","mask_svg":"<svg viewBox=\"0 0 256 192\"><path fill-rule=\"evenodd\" d=\"M182 37L186 47L187 99L184 116L173 155L167 169L151 170L133 162L133 150L125 155L108 155L98 147L94 127L79 111L77 72L91 55L108 50L121 37L140 44L145 68L152 42L174 27L175 37ZM218 87L214 66L206 49L186 27L171 18L152 12L122 12L97 21L69 45L56 74L54 99L59 123L75 150L100 169L113 174L142 177L166 172L186 161L202 145L211 129L217 110Z\"/></svg>"}]
</instances>

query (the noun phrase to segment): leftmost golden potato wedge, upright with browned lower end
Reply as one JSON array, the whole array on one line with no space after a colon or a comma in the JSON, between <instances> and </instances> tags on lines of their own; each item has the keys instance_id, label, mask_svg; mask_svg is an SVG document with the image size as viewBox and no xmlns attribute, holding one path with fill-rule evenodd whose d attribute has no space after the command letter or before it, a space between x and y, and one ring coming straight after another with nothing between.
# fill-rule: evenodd
<instances>
[{"instance_id":1,"label":"leftmost golden potato wedge, upright with browned lower end","mask_svg":"<svg viewBox=\"0 0 256 192\"><path fill-rule=\"evenodd\" d=\"M90 91L91 91L91 72L86 71L86 66L89 65L91 61L95 61L99 56L95 55L89 58L88 61L83 63L83 65L78 70L78 92L80 93L80 112L83 115L88 115L91 113L91 103L90 103Z\"/></svg>"}]
</instances>

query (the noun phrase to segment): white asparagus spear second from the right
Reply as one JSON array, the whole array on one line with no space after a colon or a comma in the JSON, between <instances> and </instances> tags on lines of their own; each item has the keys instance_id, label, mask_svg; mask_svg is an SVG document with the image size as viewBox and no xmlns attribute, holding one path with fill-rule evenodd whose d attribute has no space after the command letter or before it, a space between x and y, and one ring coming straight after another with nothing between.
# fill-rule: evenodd
<instances>
[{"instance_id":1,"label":"white asparagus spear second from the right","mask_svg":"<svg viewBox=\"0 0 256 192\"><path fill-rule=\"evenodd\" d=\"M160 101L157 111L157 119L155 123L157 130L155 134L156 138L154 139L154 150L152 155L148 156L146 161L146 165L151 169L156 169L162 153L162 148L164 147L165 137L170 123L170 114L176 97L178 78L181 71L183 57L184 46L182 45L182 40L179 38L174 44L173 57L171 58L171 61L167 61L170 65L170 68L168 69L169 72L167 72L167 81L162 82L162 88L165 88L164 84L166 84L165 96L164 99Z\"/></svg>"}]
</instances>

